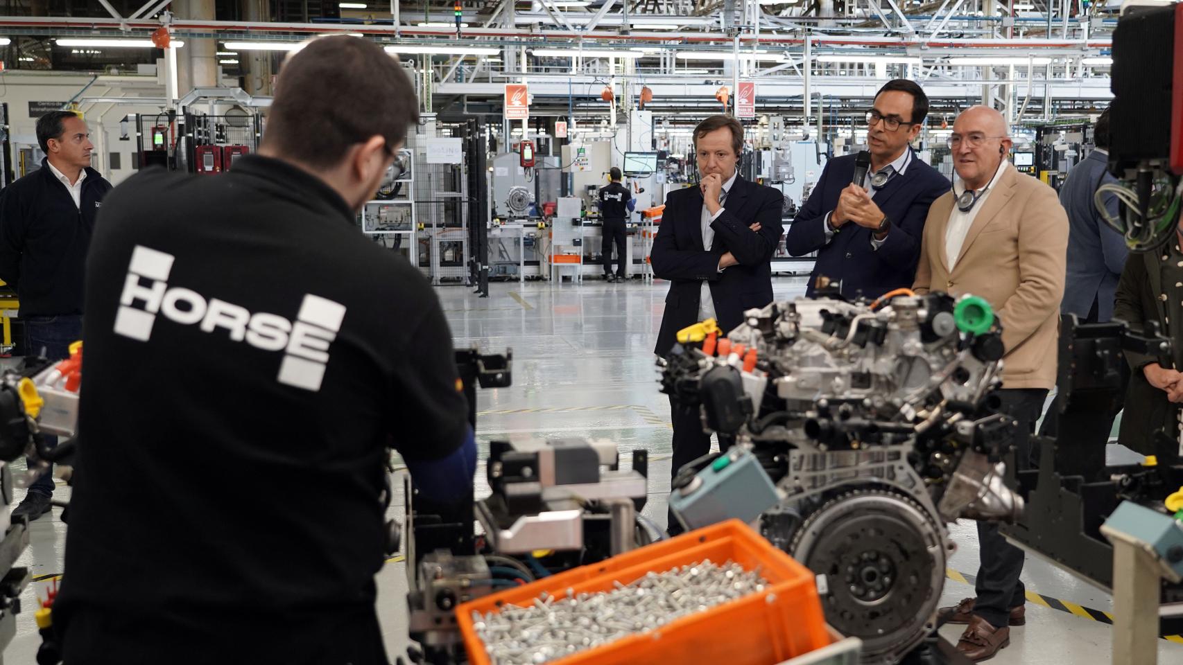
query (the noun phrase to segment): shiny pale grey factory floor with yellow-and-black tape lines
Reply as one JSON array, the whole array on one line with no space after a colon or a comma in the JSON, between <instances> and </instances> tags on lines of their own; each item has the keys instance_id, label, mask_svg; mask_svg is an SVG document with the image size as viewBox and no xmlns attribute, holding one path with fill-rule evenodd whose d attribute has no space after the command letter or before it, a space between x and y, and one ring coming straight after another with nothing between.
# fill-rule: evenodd
<instances>
[{"instance_id":1,"label":"shiny pale grey factory floor with yellow-and-black tape lines","mask_svg":"<svg viewBox=\"0 0 1183 665\"><path fill-rule=\"evenodd\" d=\"M801 278L778 278L772 286L777 299L804 292ZM666 288L664 282L638 280L588 280L581 286L499 282L491 286L487 299L478 299L465 287L438 288L457 346L513 350L512 387L478 393L481 456L487 455L491 438L509 435L589 436L612 439L625 451L648 449L649 498L644 514L665 527L670 408L658 392L652 351ZM478 482L483 478L481 468ZM481 491L487 489L478 487L478 496ZM56 498L67 500L69 488L59 488ZM66 527L60 513L54 508L52 517L32 524L30 547L18 565L32 567L33 575L62 572ZM390 513L401 517L401 497ZM967 576L971 580L977 572L978 554L971 522L952 524L950 530L958 550L949 563L945 605L974 594ZM1027 625L1011 628L1010 646L991 665L1111 661L1111 627L1081 617L1087 609L1111 611L1107 593L1032 556L1023 579L1029 598L1036 600L1027 604ZM17 637L2 654L5 663L34 661L40 644L32 617L34 593L44 595L49 583L34 582L21 596L25 611L18 615ZM406 591L406 567L396 558L379 574L379 614L392 660L407 645ZM956 640L958 627L945 626L942 634ZM1183 644L1161 639L1158 645L1161 664L1183 664Z\"/></svg>"}]
</instances>

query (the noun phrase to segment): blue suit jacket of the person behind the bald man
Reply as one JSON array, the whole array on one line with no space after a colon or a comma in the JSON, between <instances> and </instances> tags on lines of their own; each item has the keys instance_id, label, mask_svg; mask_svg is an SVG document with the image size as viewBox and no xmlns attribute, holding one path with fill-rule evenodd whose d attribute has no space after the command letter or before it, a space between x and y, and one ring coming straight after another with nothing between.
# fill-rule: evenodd
<instances>
[{"instance_id":1,"label":"blue suit jacket of the person behind the bald man","mask_svg":"<svg viewBox=\"0 0 1183 665\"><path fill-rule=\"evenodd\" d=\"M1108 174L1106 157L1093 151L1068 171L1060 188L1060 204L1068 211L1068 275L1060 301L1061 314L1084 319L1095 300L1097 319L1108 321L1113 318L1117 282L1130 249L1121 234L1101 219L1093 203L1093 193L1099 184L1114 180ZM1116 217L1117 196L1105 195L1105 208Z\"/></svg>"}]
</instances>

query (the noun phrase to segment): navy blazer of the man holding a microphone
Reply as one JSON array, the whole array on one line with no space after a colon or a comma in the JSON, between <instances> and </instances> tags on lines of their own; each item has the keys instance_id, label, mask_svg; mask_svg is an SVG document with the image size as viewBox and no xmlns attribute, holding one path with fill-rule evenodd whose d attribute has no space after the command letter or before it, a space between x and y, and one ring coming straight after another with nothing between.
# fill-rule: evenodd
<instances>
[{"instance_id":1,"label":"navy blazer of the man holding a microphone","mask_svg":"<svg viewBox=\"0 0 1183 665\"><path fill-rule=\"evenodd\" d=\"M911 150L911 148L909 148ZM871 246L871 229L853 222L842 226L826 245L826 214L838 207L838 196L854 180L854 155L826 163L809 201L789 226L784 247L801 256L817 250L817 262L809 275L807 295L813 295L820 275L842 281L842 295L854 299L878 298L888 291L912 286L920 257L920 239L929 206L949 191L949 181L912 154L912 162L878 190L873 200L891 217L891 232L878 250Z\"/></svg>"}]
</instances>

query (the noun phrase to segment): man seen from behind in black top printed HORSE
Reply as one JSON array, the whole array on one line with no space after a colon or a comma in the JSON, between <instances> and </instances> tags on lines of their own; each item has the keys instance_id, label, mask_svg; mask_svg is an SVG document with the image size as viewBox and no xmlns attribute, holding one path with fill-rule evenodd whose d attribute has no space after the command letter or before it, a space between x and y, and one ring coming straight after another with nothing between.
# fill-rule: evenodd
<instances>
[{"instance_id":1,"label":"man seen from behind in black top printed HORSE","mask_svg":"<svg viewBox=\"0 0 1183 665\"><path fill-rule=\"evenodd\" d=\"M104 204L53 607L66 663L387 663L389 448L441 503L472 496L477 457L435 293L356 226L416 109L381 46L313 39L257 155L147 169Z\"/></svg>"}]
</instances>

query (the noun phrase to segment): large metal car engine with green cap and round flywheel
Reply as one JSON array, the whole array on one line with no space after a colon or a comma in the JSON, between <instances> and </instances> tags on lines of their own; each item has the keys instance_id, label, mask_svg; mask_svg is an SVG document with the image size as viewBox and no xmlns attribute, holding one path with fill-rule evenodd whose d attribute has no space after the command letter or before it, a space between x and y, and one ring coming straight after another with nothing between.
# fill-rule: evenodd
<instances>
[{"instance_id":1,"label":"large metal car engine with green cap and round flywheel","mask_svg":"<svg viewBox=\"0 0 1183 665\"><path fill-rule=\"evenodd\" d=\"M671 508L687 528L758 520L817 573L827 621L862 640L865 664L927 648L946 522L1022 513L1003 483L1015 422L991 398L990 306L901 291L774 302L726 337L706 321L659 361L662 391L698 404L724 450L683 467Z\"/></svg>"}]
</instances>

